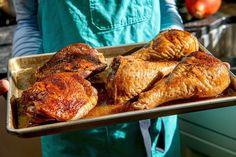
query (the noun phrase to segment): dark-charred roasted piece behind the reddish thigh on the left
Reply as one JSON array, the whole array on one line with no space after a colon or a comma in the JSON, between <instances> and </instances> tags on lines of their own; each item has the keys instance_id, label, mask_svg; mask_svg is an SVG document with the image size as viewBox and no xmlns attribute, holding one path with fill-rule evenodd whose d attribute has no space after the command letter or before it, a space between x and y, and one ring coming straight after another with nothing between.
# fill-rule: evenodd
<instances>
[{"instance_id":1,"label":"dark-charred roasted piece behind the reddish thigh on the left","mask_svg":"<svg viewBox=\"0 0 236 157\"><path fill-rule=\"evenodd\" d=\"M83 78L103 71L106 68L102 53L87 44L77 43L58 51L35 76L37 79L59 72L76 72Z\"/></svg>"}]
</instances>

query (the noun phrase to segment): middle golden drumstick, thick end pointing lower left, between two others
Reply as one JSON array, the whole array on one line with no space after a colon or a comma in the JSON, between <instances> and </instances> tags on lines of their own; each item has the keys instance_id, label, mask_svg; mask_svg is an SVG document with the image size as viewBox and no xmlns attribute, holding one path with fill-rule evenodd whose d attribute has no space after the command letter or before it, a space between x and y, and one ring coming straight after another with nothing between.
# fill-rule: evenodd
<instances>
[{"instance_id":1,"label":"middle golden drumstick, thick end pointing lower left, between two others","mask_svg":"<svg viewBox=\"0 0 236 157\"><path fill-rule=\"evenodd\" d=\"M157 80L168 75L177 65L175 61L150 62L129 57L116 57L107 79L107 91L115 103L134 98Z\"/></svg>"}]
</instances>

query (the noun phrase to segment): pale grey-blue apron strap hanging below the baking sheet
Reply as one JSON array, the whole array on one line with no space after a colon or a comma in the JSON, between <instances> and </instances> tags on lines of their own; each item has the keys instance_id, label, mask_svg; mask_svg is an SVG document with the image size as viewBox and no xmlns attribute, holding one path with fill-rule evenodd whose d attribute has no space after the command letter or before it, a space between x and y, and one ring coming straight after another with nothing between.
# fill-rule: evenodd
<instances>
[{"instance_id":1,"label":"pale grey-blue apron strap hanging below the baking sheet","mask_svg":"<svg viewBox=\"0 0 236 157\"><path fill-rule=\"evenodd\" d=\"M140 130L143 136L143 141L145 145L145 149L147 152L147 157L152 157L152 141L151 135L149 132L149 127L151 126L151 120L140 120L139 121Z\"/></svg>"}]
</instances>

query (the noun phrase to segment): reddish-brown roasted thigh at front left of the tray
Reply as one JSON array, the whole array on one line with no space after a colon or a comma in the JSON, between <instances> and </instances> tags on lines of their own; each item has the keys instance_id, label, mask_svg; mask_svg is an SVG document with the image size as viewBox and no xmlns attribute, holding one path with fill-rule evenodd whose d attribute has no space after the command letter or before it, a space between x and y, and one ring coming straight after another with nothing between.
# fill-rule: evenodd
<instances>
[{"instance_id":1,"label":"reddish-brown roasted thigh at front left of the tray","mask_svg":"<svg viewBox=\"0 0 236 157\"><path fill-rule=\"evenodd\" d=\"M47 75L36 82L22 93L21 103L30 117L68 121L86 115L97 99L97 90L89 81L67 72Z\"/></svg>"}]
</instances>

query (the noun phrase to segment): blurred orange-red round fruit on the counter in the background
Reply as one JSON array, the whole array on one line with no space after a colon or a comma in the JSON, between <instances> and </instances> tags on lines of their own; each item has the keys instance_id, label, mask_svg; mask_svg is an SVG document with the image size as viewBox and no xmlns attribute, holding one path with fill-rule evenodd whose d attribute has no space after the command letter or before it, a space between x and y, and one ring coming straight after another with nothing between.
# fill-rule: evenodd
<instances>
[{"instance_id":1,"label":"blurred orange-red round fruit on the counter in the background","mask_svg":"<svg viewBox=\"0 0 236 157\"><path fill-rule=\"evenodd\" d=\"M222 0L185 0L186 8L190 15L202 19L216 13Z\"/></svg>"}]
</instances>

